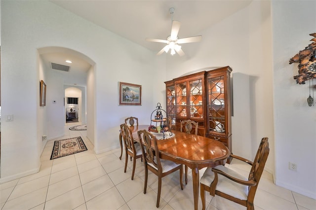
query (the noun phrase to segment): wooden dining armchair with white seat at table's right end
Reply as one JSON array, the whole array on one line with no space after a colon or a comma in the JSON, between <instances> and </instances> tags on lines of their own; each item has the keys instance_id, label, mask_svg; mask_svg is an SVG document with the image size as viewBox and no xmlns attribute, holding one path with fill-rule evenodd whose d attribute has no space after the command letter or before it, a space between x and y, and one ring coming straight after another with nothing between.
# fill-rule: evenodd
<instances>
[{"instance_id":1,"label":"wooden dining armchair with white seat at table's right end","mask_svg":"<svg viewBox=\"0 0 316 210\"><path fill-rule=\"evenodd\" d=\"M260 142L254 162L231 154L231 157L252 166L248 177L239 174L231 167L223 165L207 168L200 179L202 210L205 210L205 191L208 191L211 196L218 195L247 207L247 210L253 210L253 200L269 150L268 138L265 137Z\"/></svg>"}]
</instances>

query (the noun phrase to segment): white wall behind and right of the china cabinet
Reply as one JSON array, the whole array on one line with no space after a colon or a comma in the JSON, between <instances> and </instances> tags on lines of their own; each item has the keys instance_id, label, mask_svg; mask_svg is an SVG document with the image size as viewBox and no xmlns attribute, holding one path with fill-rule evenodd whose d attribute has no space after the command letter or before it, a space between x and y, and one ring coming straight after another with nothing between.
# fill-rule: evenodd
<instances>
[{"instance_id":1,"label":"white wall behind and right of the china cabinet","mask_svg":"<svg viewBox=\"0 0 316 210\"><path fill-rule=\"evenodd\" d=\"M233 77L234 87L244 88L241 93L233 90L234 99L238 98L236 94L243 94L241 97L248 99L248 102L245 102L246 107L236 104L238 101L234 103L232 150L236 155L253 159L261 139L268 137L270 154L266 170L273 173L270 1L253 1L246 8L200 34L202 35L201 42L182 45L186 56L167 57L168 79L192 70L224 66L230 66L233 74L242 73L248 77L246 83L241 78L234 80ZM247 112L245 108L248 108ZM241 123L244 121L245 123Z\"/></svg>"}]
</instances>

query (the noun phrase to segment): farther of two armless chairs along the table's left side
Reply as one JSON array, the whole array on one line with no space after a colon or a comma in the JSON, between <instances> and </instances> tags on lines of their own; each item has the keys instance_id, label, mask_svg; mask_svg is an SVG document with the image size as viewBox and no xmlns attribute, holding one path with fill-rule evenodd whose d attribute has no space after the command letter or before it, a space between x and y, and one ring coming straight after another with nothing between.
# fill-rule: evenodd
<instances>
[{"instance_id":1,"label":"farther of two armless chairs along the table's left side","mask_svg":"<svg viewBox=\"0 0 316 210\"><path fill-rule=\"evenodd\" d=\"M131 158L133 158L133 170L132 170L132 180L134 179L134 173L135 173L135 166L136 166L136 159L142 158L142 150L139 143L134 143L134 139L132 136L132 132L128 125L121 124L120 125L120 132L124 141L125 146L125 168L124 173L126 173L127 168L127 160L128 155L130 155Z\"/></svg>"}]
</instances>

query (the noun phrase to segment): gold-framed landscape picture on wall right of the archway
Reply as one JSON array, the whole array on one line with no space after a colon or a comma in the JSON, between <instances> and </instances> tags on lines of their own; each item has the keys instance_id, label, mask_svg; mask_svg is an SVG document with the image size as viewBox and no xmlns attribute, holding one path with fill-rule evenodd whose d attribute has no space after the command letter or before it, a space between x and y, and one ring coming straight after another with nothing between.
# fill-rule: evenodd
<instances>
[{"instance_id":1,"label":"gold-framed landscape picture on wall right of the archway","mask_svg":"<svg viewBox=\"0 0 316 210\"><path fill-rule=\"evenodd\" d=\"M125 82L118 83L118 105L142 105L142 86Z\"/></svg>"}]
</instances>

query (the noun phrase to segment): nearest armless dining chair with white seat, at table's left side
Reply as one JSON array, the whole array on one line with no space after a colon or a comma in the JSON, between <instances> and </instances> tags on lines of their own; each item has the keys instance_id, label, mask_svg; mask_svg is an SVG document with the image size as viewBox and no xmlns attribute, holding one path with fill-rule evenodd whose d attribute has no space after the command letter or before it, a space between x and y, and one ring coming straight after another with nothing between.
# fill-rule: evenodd
<instances>
[{"instance_id":1,"label":"nearest armless dining chair with white seat, at table's left side","mask_svg":"<svg viewBox=\"0 0 316 210\"><path fill-rule=\"evenodd\" d=\"M141 130L137 132L144 159L145 166L145 183L144 183L144 194L147 190L147 180L148 180L148 170L153 172L158 176L158 195L156 207L159 207L160 194L161 194L161 178L169 175L175 171L180 170L180 186L183 190L182 174L183 166L182 164L176 164L169 160L163 160L159 157L159 150L157 145L157 138L155 135L151 134L146 130ZM152 145L154 144L154 145Z\"/></svg>"}]
</instances>

